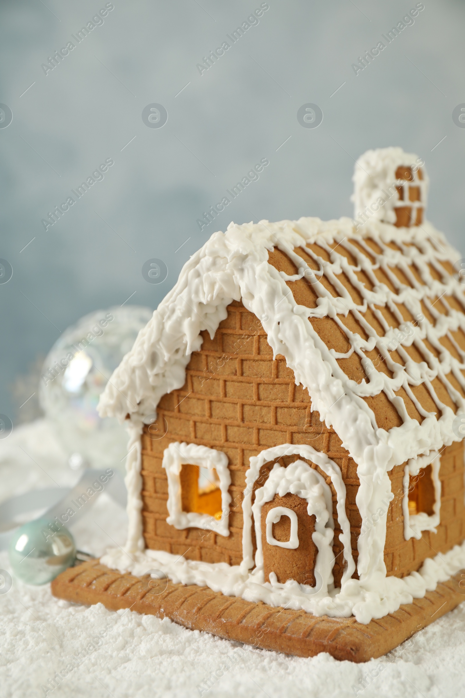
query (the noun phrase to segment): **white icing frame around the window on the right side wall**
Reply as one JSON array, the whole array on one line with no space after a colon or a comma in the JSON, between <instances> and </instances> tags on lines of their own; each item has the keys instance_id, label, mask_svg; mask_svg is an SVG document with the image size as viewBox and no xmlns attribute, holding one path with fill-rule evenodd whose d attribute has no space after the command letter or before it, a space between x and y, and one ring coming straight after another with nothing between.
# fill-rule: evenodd
<instances>
[{"instance_id":1,"label":"white icing frame around the window on the right side wall","mask_svg":"<svg viewBox=\"0 0 465 698\"><path fill-rule=\"evenodd\" d=\"M428 516L425 512L410 515L409 512L409 484L410 476L419 476L420 471L431 464L432 480L434 484L434 505L433 514ZM416 538L420 540L423 530L431 530L437 533L436 526L441 522L441 480L439 480L439 468L441 467L441 456L437 451L427 456L419 456L410 459L404 468L404 498L402 499L402 513L404 514L404 538Z\"/></svg>"}]
</instances>

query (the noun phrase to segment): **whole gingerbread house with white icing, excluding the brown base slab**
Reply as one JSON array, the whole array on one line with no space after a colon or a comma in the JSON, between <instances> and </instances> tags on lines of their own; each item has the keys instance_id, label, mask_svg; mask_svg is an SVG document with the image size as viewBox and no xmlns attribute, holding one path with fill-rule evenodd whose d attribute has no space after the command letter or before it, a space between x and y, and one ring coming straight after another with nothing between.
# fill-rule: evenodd
<instances>
[{"instance_id":1,"label":"whole gingerbread house with white icing, excluding the brown base slab","mask_svg":"<svg viewBox=\"0 0 465 698\"><path fill-rule=\"evenodd\" d=\"M105 565L360 623L465 567L459 254L420 158L354 182L353 219L215 232L139 333L100 399L130 433Z\"/></svg>"}]
</instances>

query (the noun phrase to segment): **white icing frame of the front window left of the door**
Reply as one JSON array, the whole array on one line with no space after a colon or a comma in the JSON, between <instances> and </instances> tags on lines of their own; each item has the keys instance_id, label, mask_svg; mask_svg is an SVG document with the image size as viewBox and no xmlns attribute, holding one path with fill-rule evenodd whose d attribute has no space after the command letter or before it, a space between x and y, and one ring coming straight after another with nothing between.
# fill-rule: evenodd
<instances>
[{"instance_id":1,"label":"white icing frame of the front window left of the door","mask_svg":"<svg viewBox=\"0 0 465 698\"><path fill-rule=\"evenodd\" d=\"M191 463L193 466L208 468L211 471L215 468L220 480L221 490L221 519L215 519L209 514L197 514L197 512L183 512L181 506L181 466L184 463ZM222 451L213 448L199 446L195 443L170 443L163 454L163 468L167 471L168 477L168 514L167 523L174 528L203 528L204 530L214 530L220 535L229 535L229 504L231 495L228 492L231 484L231 475L228 468L228 457ZM213 480L213 475L209 476Z\"/></svg>"}]
</instances>

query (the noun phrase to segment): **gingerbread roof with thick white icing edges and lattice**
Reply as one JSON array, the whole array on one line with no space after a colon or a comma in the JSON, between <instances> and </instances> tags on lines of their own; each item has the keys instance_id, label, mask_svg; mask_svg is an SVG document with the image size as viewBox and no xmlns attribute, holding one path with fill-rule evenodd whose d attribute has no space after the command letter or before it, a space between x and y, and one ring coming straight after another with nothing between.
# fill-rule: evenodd
<instances>
[{"instance_id":1,"label":"gingerbread roof with thick white icing edges and lattice","mask_svg":"<svg viewBox=\"0 0 465 698\"><path fill-rule=\"evenodd\" d=\"M399 178L391 160L383 175L389 184L395 166L390 212L399 225L406 214L398 209L410 209L410 228L369 215L373 199L356 186L356 202L367 202L364 223L300 218L215 232L114 372L100 415L150 422L162 395L184 384L200 332L213 338L227 305L242 300L360 473L382 477L459 440L452 430L465 411L465 297L452 266L459 254L431 223L418 225L425 191L409 188L427 181L424 172L409 162Z\"/></svg>"}]
</instances>

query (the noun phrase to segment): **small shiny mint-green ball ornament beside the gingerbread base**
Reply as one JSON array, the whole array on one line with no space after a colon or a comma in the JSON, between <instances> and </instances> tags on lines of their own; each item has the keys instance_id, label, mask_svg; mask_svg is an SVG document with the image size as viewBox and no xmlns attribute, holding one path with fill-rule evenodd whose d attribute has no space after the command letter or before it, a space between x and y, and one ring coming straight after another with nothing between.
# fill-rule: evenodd
<instances>
[{"instance_id":1,"label":"small shiny mint-green ball ornament beside the gingerbread base","mask_svg":"<svg viewBox=\"0 0 465 698\"><path fill-rule=\"evenodd\" d=\"M47 584L73 565L75 541L68 528L52 519L36 519L18 528L9 549L10 565L26 584Z\"/></svg>"}]
</instances>

